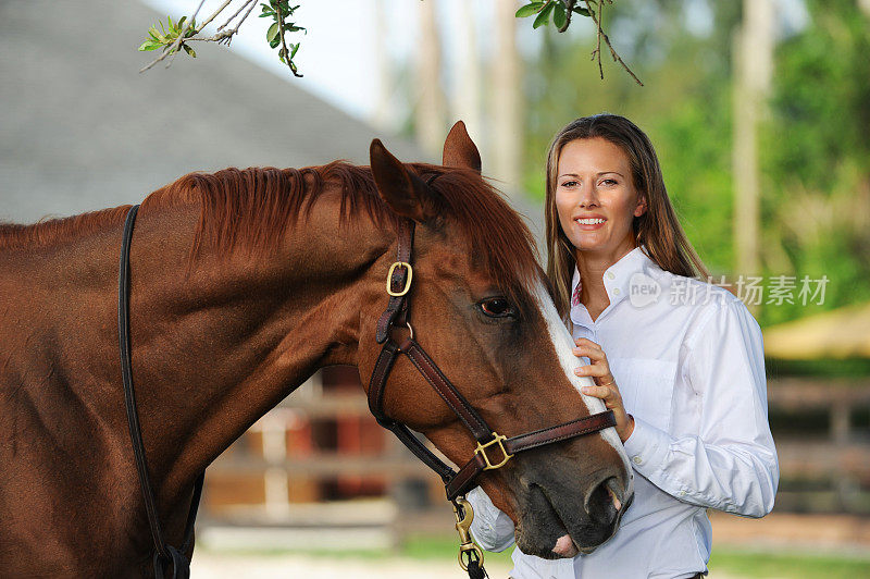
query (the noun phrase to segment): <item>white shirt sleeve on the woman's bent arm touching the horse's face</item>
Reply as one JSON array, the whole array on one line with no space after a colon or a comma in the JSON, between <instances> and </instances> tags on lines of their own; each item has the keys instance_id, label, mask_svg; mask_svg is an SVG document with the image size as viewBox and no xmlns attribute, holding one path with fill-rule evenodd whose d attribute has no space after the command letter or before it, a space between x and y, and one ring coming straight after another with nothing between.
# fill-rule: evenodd
<instances>
[{"instance_id":1,"label":"white shirt sleeve on the woman's bent arm touching the horse's face","mask_svg":"<svg viewBox=\"0 0 870 579\"><path fill-rule=\"evenodd\" d=\"M773 508L780 468L758 322L737 299L720 304L684 364L701 396L699 432L674 438L635 417L625 441L634 469L680 501L763 517Z\"/></svg>"}]
</instances>

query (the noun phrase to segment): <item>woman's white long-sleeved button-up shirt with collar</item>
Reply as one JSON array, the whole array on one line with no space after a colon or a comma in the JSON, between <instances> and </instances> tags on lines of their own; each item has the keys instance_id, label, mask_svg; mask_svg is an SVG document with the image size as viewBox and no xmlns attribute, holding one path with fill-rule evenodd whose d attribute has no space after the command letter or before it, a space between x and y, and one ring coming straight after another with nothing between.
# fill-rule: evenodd
<instances>
[{"instance_id":1,"label":"woman's white long-sleeved button-up shirt with collar","mask_svg":"<svg viewBox=\"0 0 870 579\"><path fill-rule=\"evenodd\" d=\"M763 346L746 306L661 270L643 247L608 268L604 282L610 305L593 321L573 300L572 333L601 346L634 416L624 444L634 503L593 554L548 560L514 550L515 579L692 577L710 556L706 508L747 517L773 508L780 475ZM579 283L575 270L574 290ZM489 551L513 544L512 521L480 488L469 500L475 540Z\"/></svg>"}]
</instances>

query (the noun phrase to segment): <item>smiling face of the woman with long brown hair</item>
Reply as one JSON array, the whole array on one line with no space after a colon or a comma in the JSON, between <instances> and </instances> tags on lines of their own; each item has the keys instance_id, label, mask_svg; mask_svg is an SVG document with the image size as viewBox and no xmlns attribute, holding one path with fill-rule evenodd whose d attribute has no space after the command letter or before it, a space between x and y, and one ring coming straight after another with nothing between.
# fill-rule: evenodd
<instances>
[{"instance_id":1,"label":"smiling face of the woman with long brown hair","mask_svg":"<svg viewBox=\"0 0 870 579\"><path fill-rule=\"evenodd\" d=\"M579 251L618 259L636 246L632 220L646 211L646 199L634 188L629 158L609 140L562 147L555 200L562 231Z\"/></svg>"}]
</instances>

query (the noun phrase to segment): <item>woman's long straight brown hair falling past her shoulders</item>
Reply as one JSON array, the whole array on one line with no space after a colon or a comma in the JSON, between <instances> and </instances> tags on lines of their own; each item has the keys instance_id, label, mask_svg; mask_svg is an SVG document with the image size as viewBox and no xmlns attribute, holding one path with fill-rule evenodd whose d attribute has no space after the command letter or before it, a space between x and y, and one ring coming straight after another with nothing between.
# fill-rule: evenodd
<instances>
[{"instance_id":1,"label":"woman's long straight brown hair falling past her shoulders","mask_svg":"<svg viewBox=\"0 0 870 579\"><path fill-rule=\"evenodd\" d=\"M596 137L607 139L623 150L631 163L634 187L646 197L646 212L635 217L632 223L637 245L644 245L649 258L666 271L687 278L709 275L676 219L649 138L624 116L606 113L584 116L559 131L547 153L547 276L552 284L556 308L563 319L568 317L571 298L575 248L562 231L556 210L559 156L568 143Z\"/></svg>"}]
</instances>

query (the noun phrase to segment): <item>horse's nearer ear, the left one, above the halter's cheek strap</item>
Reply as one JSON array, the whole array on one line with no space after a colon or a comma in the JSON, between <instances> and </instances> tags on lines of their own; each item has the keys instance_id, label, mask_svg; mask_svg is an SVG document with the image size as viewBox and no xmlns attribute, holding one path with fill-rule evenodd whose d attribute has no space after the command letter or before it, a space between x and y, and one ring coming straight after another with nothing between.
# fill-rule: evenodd
<instances>
[{"instance_id":1,"label":"horse's nearer ear, the left one, above the halter's cheek strap","mask_svg":"<svg viewBox=\"0 0 870 579\"><path fill-rule=\"evenodd\" d=\"M425 223L435 217L428 185L408 171L401 161L384 147L381 139L372 140L369 157L377 193L393 211L418 223Z\"/></svg>"}]
</instances>

